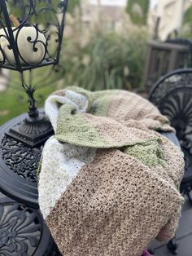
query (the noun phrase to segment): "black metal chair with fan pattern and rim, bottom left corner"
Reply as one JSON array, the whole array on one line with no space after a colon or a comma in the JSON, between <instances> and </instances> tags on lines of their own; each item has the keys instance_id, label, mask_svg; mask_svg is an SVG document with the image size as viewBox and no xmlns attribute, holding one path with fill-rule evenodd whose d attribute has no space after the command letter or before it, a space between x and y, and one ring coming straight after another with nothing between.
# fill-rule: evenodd
<instances>
[{"instance_id":1,"label":"black metal chair with fan pattern and rim, bottom left corner","mask_svg":"<svg viewBox=\"0 0 192 256\"><path fill-rule=\"evenodd\" d=\"M61 256L41 212L0 193L0 255Z\"/></svg>"}]
</instances>

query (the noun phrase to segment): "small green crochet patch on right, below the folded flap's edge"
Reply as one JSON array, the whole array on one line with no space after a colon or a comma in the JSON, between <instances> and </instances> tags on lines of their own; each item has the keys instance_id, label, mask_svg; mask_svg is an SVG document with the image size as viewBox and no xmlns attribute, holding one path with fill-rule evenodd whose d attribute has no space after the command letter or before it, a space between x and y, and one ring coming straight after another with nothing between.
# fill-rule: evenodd
<instances>
[{"instance_id":1,"label":"small green crochet patch on right, below the folded flap's edge","mask_svg":"<svg viewBox=\"0 0 192 256\"><path fill-rule=\"evenodd\" d=\"M166 165L164 152L159 147L159 143L157 141L150 141L142 144L136 144L132 147L127 147L124 149L124 153L131 157L136 157L138 160L142 161L145 166L164 167Z\"/></svg>"}]
</instances>

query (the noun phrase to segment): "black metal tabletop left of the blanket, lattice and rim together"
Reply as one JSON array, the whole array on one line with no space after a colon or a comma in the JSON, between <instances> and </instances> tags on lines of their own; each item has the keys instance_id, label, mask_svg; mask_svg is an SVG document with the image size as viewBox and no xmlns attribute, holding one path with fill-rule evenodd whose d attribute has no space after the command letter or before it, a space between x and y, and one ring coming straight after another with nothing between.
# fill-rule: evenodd
<instances>
[{"instance_id":1,"label":"black metal tabletop left of the blanket, lattice and rim together","mask_svg":"<svg viewBox=\"0 0 192 256\"><path fill-rule=\"evenodd\" d=\"M25 113L15 117L0 127L0 192L29 208L39 209L36 174L44 143L31 147L6 135L26 116Z\"/></svg>"}]
</instances>

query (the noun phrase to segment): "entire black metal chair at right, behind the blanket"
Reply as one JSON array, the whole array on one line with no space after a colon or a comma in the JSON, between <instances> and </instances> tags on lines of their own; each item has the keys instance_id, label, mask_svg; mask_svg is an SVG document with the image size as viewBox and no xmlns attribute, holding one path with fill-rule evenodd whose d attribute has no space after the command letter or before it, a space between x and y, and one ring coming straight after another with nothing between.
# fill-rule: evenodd
<instances>
[{"instance_id":1,"label":"entire black metal chair at right, behind the blanket","mask_svg":"<svg viewBox=\"0 0 192 256\"><path fill-rule=\"evenodd\" d=\"M161 77L152 87L149 100L168 117L176 130L185 154L185 174L180 190L192 205L192 68L178 69ZM168 249L177 254L175 238L169 241Z\"/></svg>"}]
</instances>

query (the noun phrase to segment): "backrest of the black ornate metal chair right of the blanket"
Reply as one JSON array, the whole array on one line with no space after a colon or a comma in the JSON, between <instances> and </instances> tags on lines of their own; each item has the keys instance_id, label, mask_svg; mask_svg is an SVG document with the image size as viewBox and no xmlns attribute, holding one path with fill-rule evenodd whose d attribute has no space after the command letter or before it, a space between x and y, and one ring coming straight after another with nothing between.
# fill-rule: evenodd
<instances>
[{"instance_id":1,"label":"backrest of the black ornate metal chair right of the blanket","mask_svg":"<svg viewBox=\"0 0 192 256\"><path fill-rule=\"evenodd\" d=\"M192 72L162 79L150 100L177 130L181 146L192 154Z\"/></svg>"}]
</instances>

